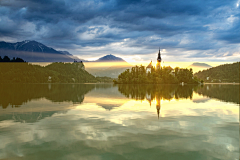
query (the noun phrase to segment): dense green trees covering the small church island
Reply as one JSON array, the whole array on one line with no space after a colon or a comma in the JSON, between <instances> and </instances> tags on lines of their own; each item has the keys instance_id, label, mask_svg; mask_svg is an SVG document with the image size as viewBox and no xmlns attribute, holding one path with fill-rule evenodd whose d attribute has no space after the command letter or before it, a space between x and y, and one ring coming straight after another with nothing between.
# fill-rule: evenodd
<instances>
[{"instance_id":1,"label":"dense green trees covering the small church island","mask_svg":"<svg viewBox=\"0 0 240 160\"><path fill-rule=\"evenodd\" d=\"M151 73L146 73L144 66L135 66L131 70L127 69L114 80L118 84L177 84L189 83L197 84L199 80L193 77L192 69L180 69L163 67L161 69L151 68Z\"/></svg>"}]
</instances>

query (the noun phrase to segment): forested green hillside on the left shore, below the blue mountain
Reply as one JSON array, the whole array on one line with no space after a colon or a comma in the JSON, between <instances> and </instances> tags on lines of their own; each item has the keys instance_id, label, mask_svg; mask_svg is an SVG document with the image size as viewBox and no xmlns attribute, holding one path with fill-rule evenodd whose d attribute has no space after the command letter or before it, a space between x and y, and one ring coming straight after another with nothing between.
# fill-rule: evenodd
<instances>
[{"instance_id":1,"label":"forested green hillside on the left shore, below the blue mountain","mask_svg":"<svg viewBox=\"0 0 240 160\"><path fill-rule=\"evenodd\" d=\"M0 83L86 83L98 80L83 63L55 62L46 67L21 63L0 63Z\"/></svg>"}]
</instances>

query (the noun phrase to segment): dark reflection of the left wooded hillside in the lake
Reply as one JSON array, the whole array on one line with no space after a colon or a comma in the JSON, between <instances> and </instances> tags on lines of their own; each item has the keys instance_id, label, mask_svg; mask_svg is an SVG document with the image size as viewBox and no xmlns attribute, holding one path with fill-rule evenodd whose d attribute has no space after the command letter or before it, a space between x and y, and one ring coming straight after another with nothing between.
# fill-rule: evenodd
<instances>
[{"instance_id":1,"label":"dark reflection of the left wooded hillside in the lake","mask_svg":"<svg viewBox=\"0 0 240 160\"><path fill-rule=\"evenodd\" d=\"M32 99L45 97L53 102L82 103L84 94L95 85L84 84L2 84L0 85L0 106L19 107Z\"/></svg>"}]
</instances>

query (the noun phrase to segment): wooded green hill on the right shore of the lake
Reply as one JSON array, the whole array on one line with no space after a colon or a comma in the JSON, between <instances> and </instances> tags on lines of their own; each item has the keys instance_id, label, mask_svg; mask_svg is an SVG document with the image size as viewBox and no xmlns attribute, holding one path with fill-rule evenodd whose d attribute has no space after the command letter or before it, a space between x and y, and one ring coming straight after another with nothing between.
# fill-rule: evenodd
<instances>
[{"instance_id":1,"label":"wooded green hill on the right shore of the lake","mask_svg":"<svg viewBox=\"0 0 240 160\"><path fill-rule=\"evenodd\" d=\"M194 74L205 82L235 82L239 83L239 63L224 64L199 71Z\"/></svg>"}]
</instances>

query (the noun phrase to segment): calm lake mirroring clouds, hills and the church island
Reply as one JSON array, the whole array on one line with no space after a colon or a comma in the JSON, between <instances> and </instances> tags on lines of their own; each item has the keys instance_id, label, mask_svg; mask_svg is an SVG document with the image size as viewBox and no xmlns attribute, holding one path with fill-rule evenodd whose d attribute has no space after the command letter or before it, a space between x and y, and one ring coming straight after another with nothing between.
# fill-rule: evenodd
<instances>
[{"instance_id":1,"label":"calm lake mirroring clouds, hills and the church island","mask_svg":"<svg viewBox=\"0 0 240 160\"><path fill-rule=\"evenodd\" d=\"M0 159L239 159L239 85L0 87Z\"/></svg>"}]
</instances>

